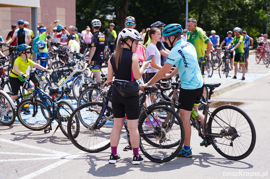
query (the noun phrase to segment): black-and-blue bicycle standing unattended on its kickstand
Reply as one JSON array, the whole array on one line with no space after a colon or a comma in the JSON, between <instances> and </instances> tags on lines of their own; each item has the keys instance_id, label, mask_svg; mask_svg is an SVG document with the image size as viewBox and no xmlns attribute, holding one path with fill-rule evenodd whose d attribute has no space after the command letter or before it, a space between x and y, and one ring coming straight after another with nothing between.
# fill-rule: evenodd
<instances>
[{"instance_id":1,"label":"black-and-blue bicycle standing unattended on its kickstand","mask_svg":"<svg viewBox=\"0 0 270 179\"><path fill-rule=\"evenodd\" d=\"M43 72L45 73L46 71ZM44 133L52 130L52 122L55 120L58 125L54 133L60 127L64 135L68 137L67 122L70 114L74 111L74 107L67 101L61 100L57 102L55 100L59 90L57 87L48 87L52 96L46 94L45 91L39 87L39 77L36 71L31 71L29 76L30 77L26 79L25 86L28 87L29 85L29 87L32 88L33 86L31 86L29 81L31 80L34 83L33 95L18 104L16 110L18 120L24 127L35 131L44 130ZM73 128L79 125L76 121L77 120L74 120L74 123L71 124ZM73 130L71 133L74 137L78 135L76 130Z\"/></svg>"}]
</instances>

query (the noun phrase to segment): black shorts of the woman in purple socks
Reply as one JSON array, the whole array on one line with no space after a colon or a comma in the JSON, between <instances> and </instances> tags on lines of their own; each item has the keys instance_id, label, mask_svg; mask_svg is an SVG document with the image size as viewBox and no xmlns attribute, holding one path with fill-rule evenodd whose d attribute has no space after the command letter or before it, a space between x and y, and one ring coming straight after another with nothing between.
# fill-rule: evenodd
<instances>
[{"instance_id":1,"label":"black shorts of the woman in purple socks","mask_svg":"<svg viewBox=\"0 0 270 179\"><path fill-rule=\"evenodd\" d=\"M134 97L123 97L121 95L112 95L112 109L115 118L139 119L140 104L139 95Z\"/></svg>"}]
</instances>

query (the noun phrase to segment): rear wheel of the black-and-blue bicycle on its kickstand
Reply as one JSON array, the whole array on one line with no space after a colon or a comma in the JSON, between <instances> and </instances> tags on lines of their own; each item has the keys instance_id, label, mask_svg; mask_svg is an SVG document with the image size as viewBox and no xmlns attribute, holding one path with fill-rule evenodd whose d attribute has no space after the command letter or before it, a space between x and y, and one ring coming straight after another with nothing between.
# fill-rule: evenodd
<instances>
[{"instance_id":1,"label":"rear wheel of the black-and-blue bicycle on its kickstand","mask_svg":"<svg viewBox=\"0 0 270 179\"><path fill-rule=\"evenodd\" d=\"M61 125L59 126L63 134L69 138L68 134L68 120L71 115L71 113L74 111L74 107L67 101L60 101L57 104L57 113L58 113L58 119L59 122L61 122ZM58 122L58 123L59 123ZM80 128L78 117L75 115L74 120L72 121L71 125L71 133L74 138L76 138L79 135L79 131L76 131L77 128Z\"/></svg>"}]
</instances>

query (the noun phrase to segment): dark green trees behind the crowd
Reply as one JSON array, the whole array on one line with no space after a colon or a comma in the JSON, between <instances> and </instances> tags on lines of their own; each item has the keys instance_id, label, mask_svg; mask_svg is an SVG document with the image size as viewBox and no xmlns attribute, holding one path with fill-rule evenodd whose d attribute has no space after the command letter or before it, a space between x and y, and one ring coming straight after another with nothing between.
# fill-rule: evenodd
<instances>
[{"instance_id":1,"label":"dark green trees behind the crowd","mask_svg":"<svg viewBox=\"0 0 270 179\"><path fill-rule=\"evenodd\" d=\"M76 0L76 3L76 23L80 30L97 18L102 22L101 30L114 22L115 29L119 31L124 28L125 16L135 17L138 31L156 21L179 23L182 27L186 24L186 1ZM240 27L256 38L266 33L267 3L270 5L268 0L189 0L188 17L195 18L198 27L209 35L211 30L215 30L221 41L234 27Z\"/></svg>"}]
</instances>

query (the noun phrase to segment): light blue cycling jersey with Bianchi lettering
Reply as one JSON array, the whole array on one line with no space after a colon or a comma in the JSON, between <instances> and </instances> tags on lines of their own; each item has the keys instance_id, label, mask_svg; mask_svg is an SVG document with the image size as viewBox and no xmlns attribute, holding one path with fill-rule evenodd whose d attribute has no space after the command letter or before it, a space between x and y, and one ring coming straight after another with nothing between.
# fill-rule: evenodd
<instances>
[{"instance_id":1,"label":"light blue cycling jersey with Bianchi lettering","mask_svg":"<svg viewBox=\"0 0 270 179\"><path fill-rule=\"evenodd\" d=\"M202 87L203 78L196 49L190 42L178 40L171 49L166 63L178 67L181 88L194 90Z\"/></svg>"}]
</instances>

